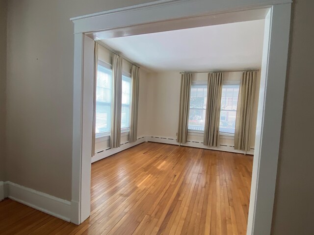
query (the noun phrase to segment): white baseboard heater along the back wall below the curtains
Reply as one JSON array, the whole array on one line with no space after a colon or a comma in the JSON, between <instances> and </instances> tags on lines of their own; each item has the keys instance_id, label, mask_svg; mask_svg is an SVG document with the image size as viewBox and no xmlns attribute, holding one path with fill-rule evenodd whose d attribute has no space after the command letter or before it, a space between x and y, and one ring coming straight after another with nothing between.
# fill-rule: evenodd
<instances>
[{"instance_id":1,"label":"white baseboard heater along the back wall below the curtains","mask_svg":"<svg viewBox=\"0 0 314 235\"><path fill-rule=\"evenodd\" d=\"M179 145L177 140L171 139L171 138L164 138L164 137L154 137L154 136L147 136L146 141L149 142L157 142L157 143L167 143L167 144L174 144ZM249 154L254 155L254 149L251 149L248 152L242 151L242 150L236 150L233 146L228 145L220 145L218 147L209 147L204 145L202 142L197 141L187 141L184 144L181 144L181 146L187 146L187 147L194 147L194 148L204 148L204 149L210 149L210 150L216 150L216 151L224 151L224 152L232 152L232 153L241 153L241 154Z\"/></svg>"}]
</instances>

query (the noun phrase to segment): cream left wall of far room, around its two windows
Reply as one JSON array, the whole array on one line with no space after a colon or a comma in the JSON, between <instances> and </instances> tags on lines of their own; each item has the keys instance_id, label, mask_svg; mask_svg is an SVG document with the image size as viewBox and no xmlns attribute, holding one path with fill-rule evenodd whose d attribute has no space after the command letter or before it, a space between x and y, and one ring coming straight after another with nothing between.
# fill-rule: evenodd
<instances>
[{"instance_id":1,"label":"cream left wall of far room, around its two windows","mask_svg":"<svg viewBox=\"0 0 314 235\"><path fill-rule=\"evenodd\" d=\"M99 46L98 59L112 65L112 52L105 47ZM122 70L131 73L131 63L123 59ZM142 137L146 131L146 77L147 72L140 68L139 70L139 102L138 102L138 123L137 137ZM121 135L121 143L129 141L129 135ZM96 152L108 148L110 145L108 137L97 138L95 142Z\"/></svg>"}]
</instances>

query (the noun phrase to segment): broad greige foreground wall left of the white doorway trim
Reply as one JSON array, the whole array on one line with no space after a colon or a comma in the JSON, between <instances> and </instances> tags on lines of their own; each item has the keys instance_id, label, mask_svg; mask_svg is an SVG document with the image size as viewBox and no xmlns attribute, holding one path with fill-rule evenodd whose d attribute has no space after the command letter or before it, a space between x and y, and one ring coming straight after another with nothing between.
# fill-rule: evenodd
<instances>
[{"instance_id":1,"label":"broad greige foreground wall left of the white doorway trim","mask_svg":"<svg viewBox=\"0 0 314 235\"><path fill-rule=\"evenodd\" d=\"M71 17L148 0L10 0L7 179L71 200Z\"/></svg>"}]
</instances>

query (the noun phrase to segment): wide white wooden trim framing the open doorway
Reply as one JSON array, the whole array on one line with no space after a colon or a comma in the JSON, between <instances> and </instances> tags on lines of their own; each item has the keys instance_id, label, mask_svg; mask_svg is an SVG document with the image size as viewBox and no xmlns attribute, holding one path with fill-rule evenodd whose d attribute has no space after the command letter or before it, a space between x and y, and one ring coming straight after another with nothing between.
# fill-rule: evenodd
<instances>
[{"instance_id":1,"label":"wide white wooden trim framing the open doorway","mask_svg":"<svg viewBox=\"0 0 314 235\"><path fill-rule=\"evenodd\" d=\"M93 40L88 37L100 39L201 26L199 19L210 22L213 14L224 14L223 19L215 21L215 24L235 22L235 12L238 15L240 10L258 11L260 8L269 8L270 11L265 22L247 234L270 234L288 59L290 0L159 0L72 19L75 28L72 222L79 224L90 214L92 122L89 112L92 99L88 84L92 84L89 59ZM254 14L245 17L253 20ZM209 25L208 22L205 24ZM117 28L126 34L116 34Z\"/></svg>"}]
</instances>

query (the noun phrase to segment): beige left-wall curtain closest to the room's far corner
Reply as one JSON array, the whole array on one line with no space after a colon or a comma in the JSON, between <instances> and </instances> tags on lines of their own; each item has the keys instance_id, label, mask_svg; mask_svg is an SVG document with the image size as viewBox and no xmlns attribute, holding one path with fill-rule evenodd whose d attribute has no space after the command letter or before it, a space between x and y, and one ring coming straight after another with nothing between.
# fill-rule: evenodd
<instances>
[{"instance_id":1,"label":"beige left-wall curtain closest to the room's far corner","mask_svg":"<svg viewBox=\"0 0 314 235\"><path fill-rule=\"evenodd\" d=\"M131 118L130 118L130 140L137 141L137 116L138 116L138 93L139 93L139 68L132 65L131 68Z\"/></svg>"}]
</instances>

